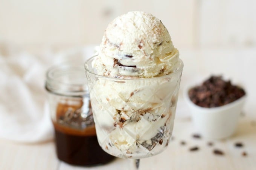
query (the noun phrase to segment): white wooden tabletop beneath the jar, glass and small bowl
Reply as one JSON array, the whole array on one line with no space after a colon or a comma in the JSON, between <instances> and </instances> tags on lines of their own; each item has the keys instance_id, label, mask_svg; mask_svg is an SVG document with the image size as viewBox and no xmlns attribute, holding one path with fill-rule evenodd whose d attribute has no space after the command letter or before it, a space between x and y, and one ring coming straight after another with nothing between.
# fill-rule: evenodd
<instances>
[{"instance_id":1,"label":"white wooden tabletop beneath the jar, glass and small bowl","mask_svg":"<svg viewBox=\"0 0 256 170\"><path fill-rule=\"evenodd\" d=\"M216 57L218 56L218 57ZM256 170L256 50L182 50L184 62L180 91L195 77L209 77L223 74L233 82L242 84L247 91L244 116L239 118L236 134L226 140L215 140L208 146L205 138L192 138L197 133L190 120L189 112L178 102L175 118L174 139L164 152L141 159L142 170ZM185 141L185 145L180 142ZM237 148L235 142L244 147ZM190 152L191 147L199 150ZM214 155L213 149L220 149L224 155ZM247 152L247 156L242 156ZM115 159L96 167L75 167L58 161L54 141L40 144L21 144L0 139L0 170L129 170L129 160Z\"/></svg>"}]
</instances>

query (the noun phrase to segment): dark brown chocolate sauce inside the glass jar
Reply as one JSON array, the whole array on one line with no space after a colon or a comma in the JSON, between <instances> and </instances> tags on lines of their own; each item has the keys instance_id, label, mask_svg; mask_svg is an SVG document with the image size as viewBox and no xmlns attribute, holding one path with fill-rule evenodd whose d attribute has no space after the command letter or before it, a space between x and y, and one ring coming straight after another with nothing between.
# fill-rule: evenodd
<instances>
[{"instance_id":1,"label":"dark brown chocolate sauce inside the glass jar","mask_svg":"<svg viewBox=\"0 0 256 170\"><path fill-rule=\"evenodd\" d=\"M81 106L82 102L78 105L58 104L56 122L53 121L58 159L86 166L110 162L115 157L99 146L93 121L88 125L88 120L76 114Z\"/></svg>"}]
</instances>

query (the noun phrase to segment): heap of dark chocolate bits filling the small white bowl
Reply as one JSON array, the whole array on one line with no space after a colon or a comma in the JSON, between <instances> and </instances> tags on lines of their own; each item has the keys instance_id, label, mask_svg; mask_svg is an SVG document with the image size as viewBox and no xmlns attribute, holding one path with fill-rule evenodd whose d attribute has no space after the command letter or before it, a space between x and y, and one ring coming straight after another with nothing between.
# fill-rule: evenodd
<instances>
[{"instance_id":1,"label":"heap of dark chocolate bits filling the small white bowl","mask_svg":"<svg viewBox=\"0 0 256 170\"><path fill-rule=\"evenodd\" d=\"M189 90L189 98L201 107L218 107L233 102L245 95L245 91L234 86L221 76L211 76L200 86Z\"/></svg>"}]
</instances>

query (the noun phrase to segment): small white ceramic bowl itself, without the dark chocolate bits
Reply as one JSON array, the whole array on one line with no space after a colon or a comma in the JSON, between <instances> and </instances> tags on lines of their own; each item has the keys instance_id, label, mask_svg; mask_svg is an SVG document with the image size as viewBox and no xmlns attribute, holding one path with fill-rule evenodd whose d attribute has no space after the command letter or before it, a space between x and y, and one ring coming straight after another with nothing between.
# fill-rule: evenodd
<instances>
[{"instance_id":1,"label":"small white ceramic bowl itself, without the dark chocolate bits","mask_svg":"<svg viewBox=\"0 0 256 170\"><path fill-rule=\"evenodd\" d=\"M190 86L184 89L184 100L190 108L192 121L197 131L206 138L221 139L230 137L236 130L238 118L245 102L245 96L229 104L205 108L194 104L188 95Z\"/></svg>"}]
</instances>

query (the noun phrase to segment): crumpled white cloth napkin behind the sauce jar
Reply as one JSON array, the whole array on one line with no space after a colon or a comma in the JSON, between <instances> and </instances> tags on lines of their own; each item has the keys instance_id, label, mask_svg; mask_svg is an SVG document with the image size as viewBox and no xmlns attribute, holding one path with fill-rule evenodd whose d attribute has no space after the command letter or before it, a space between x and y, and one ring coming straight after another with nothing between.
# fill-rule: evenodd
<instances>
[{"instance_id":1,"label":"crumpled white cloth napkin behind the sauce jar","mask_svg":"<svg viewBox=\"0 0 256 170\"><path fill-rule=\"evenodd\" d=\"M2 54L1 54L2 51ZM51 140L53 126L44 89L46 70L67 60L85 59L94 47L40 56L3 53L0 48L0 138L25 143Z\"/></svg>"}]
</instances>

